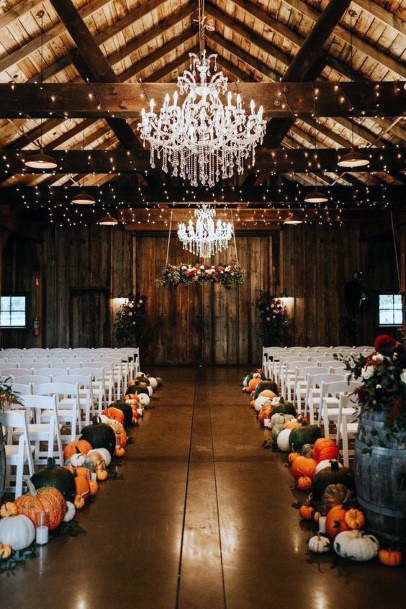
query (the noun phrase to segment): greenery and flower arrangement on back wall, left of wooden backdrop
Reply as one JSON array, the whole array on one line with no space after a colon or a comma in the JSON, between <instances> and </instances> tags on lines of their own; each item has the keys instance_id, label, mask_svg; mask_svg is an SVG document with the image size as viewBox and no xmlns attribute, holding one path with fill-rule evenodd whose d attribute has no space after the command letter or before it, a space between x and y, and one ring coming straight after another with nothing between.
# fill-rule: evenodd
<instances>
[{"instance_id":1,"label":"greenery and flower arrangement on back wall, left of wooden backdrop","mask_svg":"<svg viewBox=\"0 0 406 609\"><path fill-rule=\"evenodd\" d=\"M120 307L114 322L114 334L122 347L140 346L146 326L147 297L130 294L128 302Z\"/></svg>"}]
</instances>

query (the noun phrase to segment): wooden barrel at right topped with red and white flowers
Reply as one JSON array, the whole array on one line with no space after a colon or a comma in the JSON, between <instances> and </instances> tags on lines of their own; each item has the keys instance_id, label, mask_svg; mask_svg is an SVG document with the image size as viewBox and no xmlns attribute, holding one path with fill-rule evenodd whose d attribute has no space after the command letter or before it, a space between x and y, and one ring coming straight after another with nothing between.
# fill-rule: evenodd
<instances>
[{"instance_id":1,"label":"wooden barrel at right topped with red and white flowers","mask_svg":"<svg viewBox=\"0 0 406 609\"><path fill-rule=\"evenodd\" d=\"M406 350L386 334L368 355L344 358L361 381L355 442L357 497L370 528L391 541L406 539Z\"/></svg>"}]
</instances>

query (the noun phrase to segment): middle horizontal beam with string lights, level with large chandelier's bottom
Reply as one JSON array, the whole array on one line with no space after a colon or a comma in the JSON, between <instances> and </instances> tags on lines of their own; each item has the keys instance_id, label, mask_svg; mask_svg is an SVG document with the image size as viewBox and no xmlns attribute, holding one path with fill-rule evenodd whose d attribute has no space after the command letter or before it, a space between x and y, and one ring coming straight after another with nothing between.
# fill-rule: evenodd
<instances>
[{"instance_id":1,"label":"middle horizontal beam with string lights, level with large chandelier's bottom","mask_svg":"<svg viewBox=\"0 0 406 609\"><path fill-rule=\"evenodd\" d=\"M87 141L103 135L103 128L90 134ZM299 134L300 135L300 134ZM402 171L405 168L405 148L361 148L370 159L368 171ZM337 161L346 149L335 148L258 148L254 171L285 173L337 171ZM28 150L0 150L0 171L28 174L46 173L118 173L150 170L149 154L143 151L129 153L122 148L110 150L54 150L52 156L58 163L56 171L25 168ZM249 166L249 162L247 163ZM351 171L351 170L349 170ZM357 169L355 168L355 172ZM365 171L363 169L362 171Z\"/></svg>"}]
</instances>

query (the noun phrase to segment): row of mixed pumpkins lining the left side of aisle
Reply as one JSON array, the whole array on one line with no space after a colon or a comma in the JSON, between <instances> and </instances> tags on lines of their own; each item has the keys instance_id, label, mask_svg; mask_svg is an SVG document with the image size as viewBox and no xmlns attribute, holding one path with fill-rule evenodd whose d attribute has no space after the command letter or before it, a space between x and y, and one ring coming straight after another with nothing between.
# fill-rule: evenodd
<instances>
[{"instance_id":1,"label":"row of mixed pumpkins lining the left side of aisle","mask_svg":"<svg viewBox=\"0 0 406 609\"><path fill-rule=\"evenodd\" d=\"M99 482L108 478L112 458L125 455L126 427L138 423L152 392L162 381L140 373L130 385L123 401L94 417L92 424L82 429L80 438L65 446L64 466L56 466L54 459L48 459L45 468L25 479L28 492L0 507L0 560L34 542L40 513L48 515L52 532L63 522L73 520L87 499L97 494Z\"/></svg>"}]
</instances>

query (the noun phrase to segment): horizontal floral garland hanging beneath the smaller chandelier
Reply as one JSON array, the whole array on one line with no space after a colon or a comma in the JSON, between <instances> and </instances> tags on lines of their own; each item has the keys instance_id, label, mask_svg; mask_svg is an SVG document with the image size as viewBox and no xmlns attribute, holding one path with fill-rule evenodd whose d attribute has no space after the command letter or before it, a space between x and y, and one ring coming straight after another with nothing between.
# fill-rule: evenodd
<instances>
[{"instance_id":1,"label":"horizontal floral garland hanging beneath the smaller chandelier","mask_svg":"<svg viewBox=\"0 0 406 609\"><path fill-rule=\"evenodd\" d=\"M219 283L226 290L240 287L245 281L245 271L238 264L168 264L156 280L157 286L187 286L192 283Z\"/></svg>"}]
</instances>

